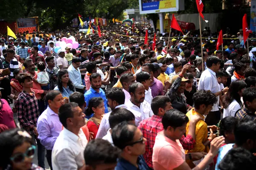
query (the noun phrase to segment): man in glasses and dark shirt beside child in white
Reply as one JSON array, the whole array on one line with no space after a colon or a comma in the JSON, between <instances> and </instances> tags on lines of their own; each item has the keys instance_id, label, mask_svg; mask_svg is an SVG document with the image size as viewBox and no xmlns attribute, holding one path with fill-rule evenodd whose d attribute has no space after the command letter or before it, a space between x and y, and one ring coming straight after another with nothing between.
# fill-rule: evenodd
<instances>
[{"instance_id":1,"label":"man in glasses and dark shirt beside child in white","mask_svg":"<svg viewBox=\"0 0 256 170\"><path fill-rule=\"evenodd\" d=\"M55 67L55 61L53 56L49 56L45 59L47 63L46 71L49 75L50 90L53 90L57 85L57 77L59 69Z\"/></svg>"}]
</instances>

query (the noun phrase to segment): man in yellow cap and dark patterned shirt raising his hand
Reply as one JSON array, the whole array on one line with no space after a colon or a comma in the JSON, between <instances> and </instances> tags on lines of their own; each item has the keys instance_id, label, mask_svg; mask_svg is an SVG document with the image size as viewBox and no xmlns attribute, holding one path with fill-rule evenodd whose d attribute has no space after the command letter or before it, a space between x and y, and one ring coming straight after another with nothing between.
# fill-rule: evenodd
<instances>
[{"instance_id":1,"label":"man in yellow cap and dark patterned shirt raising his hand","mask_svg":"<svg viewBox=\"0 0 256 170\"><path fill-rule=\"evenodd\" d=\"M188 69L190 69L191 65L186 64L183 66L182 71L180 72L179 75L175 75L171 82L172 82L172 87L170 88L170 91L166 94L171 99L171 103L173 102L180 102L183 103L187 106L187 108L192 108L188 104L186 104L186 97L183 94L184 89L186 88L186 82L189 82L189 79L184 78L184 74Z\"/></svg>"}]
</instances>

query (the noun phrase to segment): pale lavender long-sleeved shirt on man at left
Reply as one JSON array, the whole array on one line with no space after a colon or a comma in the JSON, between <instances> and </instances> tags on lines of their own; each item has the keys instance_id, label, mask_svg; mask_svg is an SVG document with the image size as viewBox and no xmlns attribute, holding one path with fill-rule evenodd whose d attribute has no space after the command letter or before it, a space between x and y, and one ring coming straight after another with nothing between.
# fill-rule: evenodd
<instances>
[{"instance_id":1,"label":"pale lavender long-sleeved shirt on man at left","mask_svg":"<svg viewBox=\"0 0 256 170\"><path fill-rule=\"evenodd\" d=\"M41 144L47 149L52 150L54 143L61 133L62 124L56 114L52 109L47 107L47 109L39 116L37 122L38 139L40 139Z\"/></svg>"}]
</instances>

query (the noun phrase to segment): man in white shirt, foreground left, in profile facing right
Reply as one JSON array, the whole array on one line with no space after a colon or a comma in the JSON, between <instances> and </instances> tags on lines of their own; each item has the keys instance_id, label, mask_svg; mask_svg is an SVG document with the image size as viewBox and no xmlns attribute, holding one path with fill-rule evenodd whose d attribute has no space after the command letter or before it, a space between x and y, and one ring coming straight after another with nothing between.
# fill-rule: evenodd
<instances>
[{"instance_id":1,"label":"man in white shirt, foreground left, in profile facing right","mask_svg":"<svg viewBox=\"0 0 256 170\"><path fill-rule=\"evenodd\" d=\"M84 170L84 148L87 139L81 130L85 114L77 103L64 104L59 109L59 119L64 126L52 149L53 170Z\"/></svg>"}]
</instances>

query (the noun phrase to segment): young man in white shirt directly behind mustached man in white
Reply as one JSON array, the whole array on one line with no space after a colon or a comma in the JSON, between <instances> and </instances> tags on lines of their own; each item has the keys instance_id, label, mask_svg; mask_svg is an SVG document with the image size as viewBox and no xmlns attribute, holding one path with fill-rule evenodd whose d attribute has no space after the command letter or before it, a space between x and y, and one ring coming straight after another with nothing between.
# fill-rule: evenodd
<instances>
[{"instance_id":1,"label":"young man in white shirt directly behind mustached man in white","mask_svg":"<svg viewBox=\"0 0 256 170\"><path fill-rule=\"evenodd\" d=\"M140 72L136 76L136 82L140 82L141 84L143 84L145 88L145 101L147 101L149 105L151 105L151 102L153 99L151 94L151 88L149 87L151 86L151 82L152 82L151 75L145 71Z\"/></svg>"}]
</instances>

